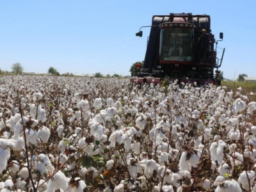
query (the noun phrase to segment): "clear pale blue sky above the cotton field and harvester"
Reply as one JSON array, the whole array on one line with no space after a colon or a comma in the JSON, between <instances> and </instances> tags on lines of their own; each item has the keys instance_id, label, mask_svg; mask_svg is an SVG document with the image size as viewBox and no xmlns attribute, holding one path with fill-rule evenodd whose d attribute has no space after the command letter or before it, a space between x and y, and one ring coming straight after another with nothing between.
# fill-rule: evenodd
<instances>
[{"instance_id":1,"label":"clear pale blue sky above the cotton field and harvester","mask_svg":"<svg viewBox=\"0 0 256 192\"><path fill-rule=\"evenodd\" d=\"M24 72L130 75L143 61L152 15L211 15L218 47L226 47L224 77L256 77L256 1L0 0L0 68L19 62Z\"/></svg>"}]
</instances>

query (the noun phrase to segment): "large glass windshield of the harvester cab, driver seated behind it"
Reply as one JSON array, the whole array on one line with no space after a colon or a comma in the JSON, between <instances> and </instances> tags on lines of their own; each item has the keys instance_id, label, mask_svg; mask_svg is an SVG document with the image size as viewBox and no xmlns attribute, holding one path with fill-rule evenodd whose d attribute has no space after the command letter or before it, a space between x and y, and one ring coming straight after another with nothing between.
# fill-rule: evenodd
<instances>
[{"instance_id":1,"label":"large glass windshield of the harvester cab, driver seated behind it","mask_svg":"<svg viewBox=\"0 0 256 192\"><path fill-rule=\"evenodd\" d=\"M192 61L193 29L161 29L160 60Z\"/></svg>"}]
</instances>

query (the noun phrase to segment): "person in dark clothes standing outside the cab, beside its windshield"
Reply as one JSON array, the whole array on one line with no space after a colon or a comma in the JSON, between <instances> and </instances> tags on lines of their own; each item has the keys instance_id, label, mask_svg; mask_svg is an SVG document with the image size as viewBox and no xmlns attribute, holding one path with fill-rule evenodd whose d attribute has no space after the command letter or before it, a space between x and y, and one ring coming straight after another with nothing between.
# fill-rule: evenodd
<instances>
[{"instance_id":1,"label":"person in dark clothes standing outside the cab, beside its windshield","mask_svg":"<svg viewBox=\"0 0 256 192\"><path fill-rule=\"evenodd\" d=\"M201 62L207 63L207 53L212 43L210 35L206 33L206 29L202 29L202 35L198 38L198 44L201 50Z\"/></svg>"}]
</instances>

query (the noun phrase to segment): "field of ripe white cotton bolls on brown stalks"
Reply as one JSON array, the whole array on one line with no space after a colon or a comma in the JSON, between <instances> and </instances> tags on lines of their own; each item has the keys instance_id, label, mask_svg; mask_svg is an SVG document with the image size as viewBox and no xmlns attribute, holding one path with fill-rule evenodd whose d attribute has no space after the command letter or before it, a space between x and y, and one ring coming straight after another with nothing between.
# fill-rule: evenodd
<instances>
[{"instance_id":1,"label":"field of ripe white cotton bolls on brown stalks","mask_svg":"<svg viewBox=\"0 0 256 192\"><path fill-rule=\"evenodd\" d=\"M256 191L243 88L0 77L3 191Z\"/></svg>"}]
</instances>

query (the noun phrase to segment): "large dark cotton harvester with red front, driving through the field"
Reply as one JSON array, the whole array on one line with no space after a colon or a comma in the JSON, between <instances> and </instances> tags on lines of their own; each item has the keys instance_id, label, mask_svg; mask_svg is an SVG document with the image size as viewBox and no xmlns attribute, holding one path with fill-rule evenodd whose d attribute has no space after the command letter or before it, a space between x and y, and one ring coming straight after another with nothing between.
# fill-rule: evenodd
<instances>
[{"instance_id":1,"label":"large dark cotton harvester with red front, driving through the field","mask_svg":"<svg viewBox=\"0 0 256 192\"><path fill-rule=\"evenodd\" d=\"M225 48L221 58L217 57L216 49L223 40L223 33L220 33L220 40L215 41L209 15L154 15L152 25L141 28L146 27L150 28L150 35L145 60L138 76L131 77L131 83L158 84L168 77L170 81L196 82L198 86L220 84L218 68ZM136 36L143 35L141 28Z\"/></svg>"}]
</instances>

